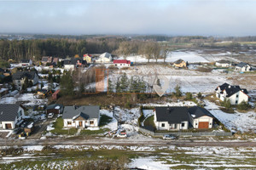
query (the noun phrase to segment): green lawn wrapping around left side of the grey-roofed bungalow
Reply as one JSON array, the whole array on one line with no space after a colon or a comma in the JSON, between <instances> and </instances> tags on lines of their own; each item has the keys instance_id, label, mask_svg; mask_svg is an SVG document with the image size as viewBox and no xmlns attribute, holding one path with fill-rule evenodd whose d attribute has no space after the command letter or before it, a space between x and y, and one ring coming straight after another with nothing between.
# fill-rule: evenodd
<instances>
[{"instance_id":1,"label":"green lawn wrapping around left side of the grey-roofed bungalow","mask_svg":"<svg viewBox=\"0 0 256 170\"><path fill-rule=\"evenodd\" d=\"M57 135L61 135L61 134L70 134L70 135L74 135L75 133L78 132L78 129L76 128L70 128L70 129L63 129L63 119L61 117L57 118L56 122L54 122L53 127L55 127L55 129L51 130L51 133L55 133Z\"/></svg>"}]
</instances>

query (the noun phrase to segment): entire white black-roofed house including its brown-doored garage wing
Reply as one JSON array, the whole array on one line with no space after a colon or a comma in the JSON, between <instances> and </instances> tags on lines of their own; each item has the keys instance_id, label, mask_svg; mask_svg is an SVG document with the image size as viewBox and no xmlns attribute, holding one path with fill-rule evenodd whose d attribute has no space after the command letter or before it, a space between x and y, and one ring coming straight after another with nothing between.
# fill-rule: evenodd
<instances>
[{"instance_id":1,"label":"entire white black-roofed house including its brown-doored garage wing","mask_svg":"<svg viewBox=\"0 0 256 170\"><path fill-rule=\"evenodd\" d=\"M154 125L157 130L185 130L189 127L212 128L214 116L199 106L155 107ZM189 126L190 125L190 126Z\"/></svg>"}]
</instances>

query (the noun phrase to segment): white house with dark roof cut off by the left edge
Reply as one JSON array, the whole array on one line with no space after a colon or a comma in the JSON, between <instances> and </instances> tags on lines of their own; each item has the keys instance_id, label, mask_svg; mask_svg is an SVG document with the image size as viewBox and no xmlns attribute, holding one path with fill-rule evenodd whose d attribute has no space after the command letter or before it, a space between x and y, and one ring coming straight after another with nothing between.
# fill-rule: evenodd
<instances>
[{"instance_id":1,"label":"white house with dark roof cut off by the left edge","mask_svg":"<svg viewBox=\"0 0 256 170\"><path fill-rule=\"evenodd\" d=\"M13 129L23 121L24 109L18 104L0 105L0 128Z\"/></svg>"}]
</instances>

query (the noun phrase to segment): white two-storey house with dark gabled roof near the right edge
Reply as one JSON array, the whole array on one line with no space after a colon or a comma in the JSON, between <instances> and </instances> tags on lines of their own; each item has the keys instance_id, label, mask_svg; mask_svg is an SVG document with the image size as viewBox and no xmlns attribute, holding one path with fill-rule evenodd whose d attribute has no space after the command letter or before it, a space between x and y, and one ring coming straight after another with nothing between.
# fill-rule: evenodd
<instances>
[{"instance_id":1,"label":"white two-storey house with dark gabled roof near the right edge","mask_svg":"<svg viewBox=\"0 0 256 170\"><path fill-rule=\"evenodd\" d=\"M230 99L231 105L238 105L242 101L248 102L249 96L247 95L246 88L240 88L239 86L231 86L228 83L224 83L215 89L216 97L222 101L224 99Z\"/></svg>"}]
</instances>

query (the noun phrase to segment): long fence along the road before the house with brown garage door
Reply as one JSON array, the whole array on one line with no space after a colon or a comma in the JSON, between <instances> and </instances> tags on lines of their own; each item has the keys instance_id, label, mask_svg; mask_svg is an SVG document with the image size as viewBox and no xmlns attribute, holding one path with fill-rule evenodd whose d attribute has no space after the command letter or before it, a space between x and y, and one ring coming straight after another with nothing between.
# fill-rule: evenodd
<instances>
[{"instance_id":1,"label":"long fence along the road before the house with brown garage door","mask_svg":"<svg viewBox=\"0 0 256 170\"><path fill-rule=\"evenodd\" d=\"M153 137L162 137L166 134L172 134L175 136L232 136L232 133L226 132L196 132L196 133L185 133L185 132L165 132L165 133L155 133L154 131L148 130L143 127L139 127L141 133L147 133Z\"/></svg>"}]
</instances>

